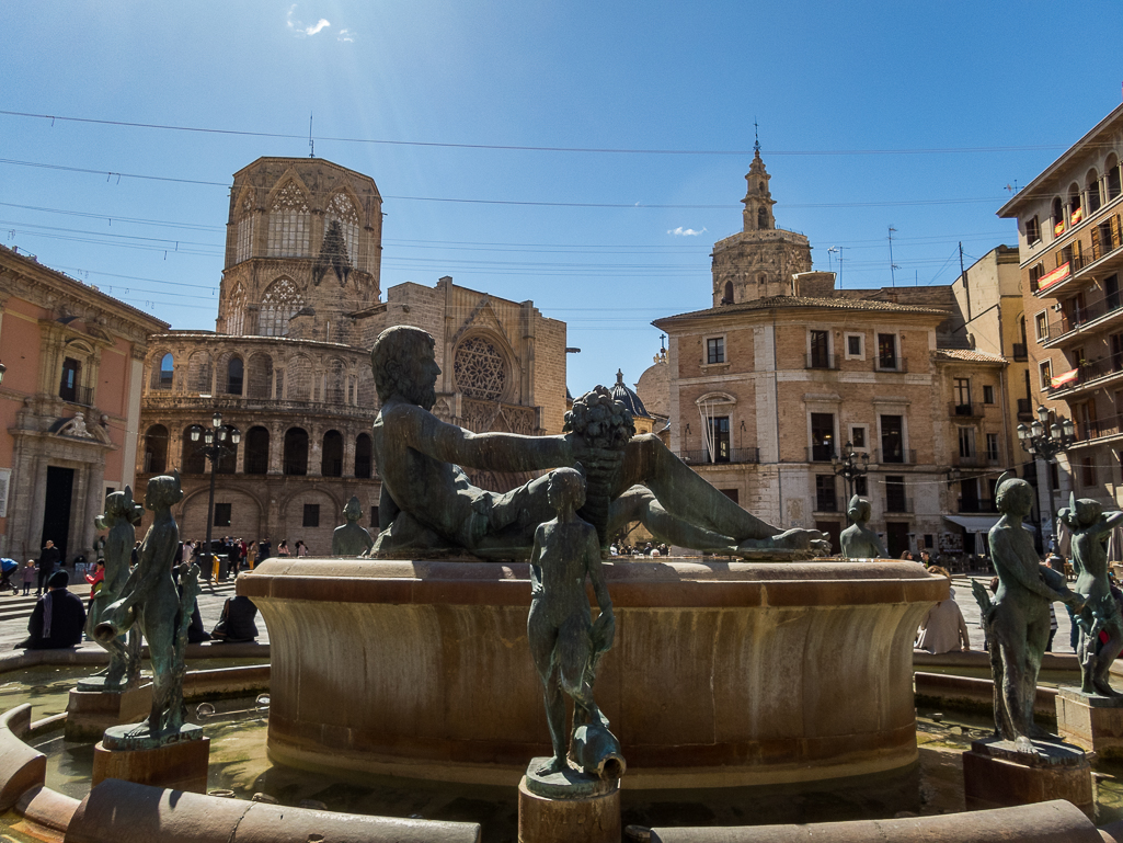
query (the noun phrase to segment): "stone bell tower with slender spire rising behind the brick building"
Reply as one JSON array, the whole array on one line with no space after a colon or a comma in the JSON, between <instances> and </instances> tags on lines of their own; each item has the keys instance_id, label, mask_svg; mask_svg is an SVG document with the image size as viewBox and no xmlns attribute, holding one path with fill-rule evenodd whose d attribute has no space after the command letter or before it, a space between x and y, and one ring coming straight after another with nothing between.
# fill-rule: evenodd
<instances>
[{"instance_id":1,"label":"stone bell tower with slender spire rising behind the brick building","mask_svg":"<svg viewBox=\"0 0 1123 843\"><path fill-rule=\"evenodd\" d=\"M742 229L713 245L713 306L792 294L792 275L811 271L811 244L798 232L776 228L760 140L745 176Z\"/></svg>"}]
</instances>

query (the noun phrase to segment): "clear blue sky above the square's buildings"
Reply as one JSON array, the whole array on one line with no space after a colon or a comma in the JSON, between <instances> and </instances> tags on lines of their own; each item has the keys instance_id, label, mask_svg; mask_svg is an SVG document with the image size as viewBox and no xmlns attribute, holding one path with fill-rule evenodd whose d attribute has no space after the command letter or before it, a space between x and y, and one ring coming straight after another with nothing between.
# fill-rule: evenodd
<instances>
[{"instance_id":1,"label":"clear blue sky above the square's buildings","mask_svg":"<svg viewBox=\"0 0 1123 843\"><path fill-rule=\"evenodd\" d=\"M384 197L383 290L532 299L583 350L576 393L636 381L650 320L709 306L755 120L777 225L818 269L841 246L843 287L889 284L893 225L897 284L949 283L957 242L1016 242L1007 185L1120 102L1121 35L1107 0L8 0L0 110L294 137L0 114L0 237L212 329L230 176L307 155L311 112L317 156Z\"/></svg>"}]
</instances>

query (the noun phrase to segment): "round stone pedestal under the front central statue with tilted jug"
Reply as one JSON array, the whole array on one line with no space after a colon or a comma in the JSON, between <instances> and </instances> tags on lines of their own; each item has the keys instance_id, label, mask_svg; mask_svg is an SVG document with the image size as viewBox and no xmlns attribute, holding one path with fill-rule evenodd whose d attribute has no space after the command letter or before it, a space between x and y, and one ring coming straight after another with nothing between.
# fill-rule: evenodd
<instances>
[{"instance_id":1,"label":"round stone pedestal under the front central statue with tilted jug","mask_svg":"<svg viewBox=\"0 0 1123 843\"><path fill-rule=\"evenodd\" d=\"M531 761L519 782L519 843L620 843L620 780L532 772L547 761Z\"/></svg>"}]
</instances>

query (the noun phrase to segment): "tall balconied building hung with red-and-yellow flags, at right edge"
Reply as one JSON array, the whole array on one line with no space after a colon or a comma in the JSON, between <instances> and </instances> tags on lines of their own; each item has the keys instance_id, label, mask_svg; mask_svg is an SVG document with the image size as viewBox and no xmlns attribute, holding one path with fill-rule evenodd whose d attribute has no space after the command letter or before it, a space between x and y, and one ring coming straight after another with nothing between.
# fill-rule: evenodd
<instances>
[{"instance_id":1,"label":"tall balconied building hung with red-and-yellow flags, at right edge","mask_svg":"<svg viewBox=\"0 0 1123 843\"><path fill-rule=\"evenodd\" d=\"M1033 409L1043 405L1050 423L1076 423L1076 444L1050 470L1051 507L1046 464L1037 463L1046 513L1067 506L1072 491L1112 509L1123 505L1121 157L1123 106L998 211L1017 219Z\"/></svg>"}]
</instances>

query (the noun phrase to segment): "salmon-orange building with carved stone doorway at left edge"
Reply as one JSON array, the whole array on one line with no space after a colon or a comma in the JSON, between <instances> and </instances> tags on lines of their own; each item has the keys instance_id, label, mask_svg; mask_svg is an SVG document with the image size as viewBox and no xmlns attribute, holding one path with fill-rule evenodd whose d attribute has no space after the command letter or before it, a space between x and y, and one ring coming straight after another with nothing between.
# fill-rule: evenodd
<instances>
[{"instance_id":1,"label":"salmon-orange building with carved stone doorway at left edge","mask_svg":"<svg viewBox=\"0 0 1123 843\"><path fill-rule=\"evenodd\" d=\"M0 555L90 558L134 482L148 335L167 323L0 246Z\"/></svg>"}]
</instances>

